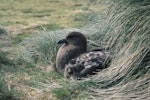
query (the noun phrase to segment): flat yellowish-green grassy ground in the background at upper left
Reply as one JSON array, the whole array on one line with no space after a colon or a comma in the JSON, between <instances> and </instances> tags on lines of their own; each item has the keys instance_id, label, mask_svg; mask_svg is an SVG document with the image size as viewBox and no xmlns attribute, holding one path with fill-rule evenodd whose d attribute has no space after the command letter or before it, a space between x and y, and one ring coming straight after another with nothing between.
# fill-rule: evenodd
<instances>
[{"instance_id":1,"label":"flat yellowish-green grassy ground in the background at upper left","mask_svg":"<svg viewBox=\"0 0 150 100\"><path fill-rule=\"evenodd\" d=\"M80 27L87 15L105 7L89 3L86 0L1 0L0 24L11 34Z\"/></svg>"}]
</instances>

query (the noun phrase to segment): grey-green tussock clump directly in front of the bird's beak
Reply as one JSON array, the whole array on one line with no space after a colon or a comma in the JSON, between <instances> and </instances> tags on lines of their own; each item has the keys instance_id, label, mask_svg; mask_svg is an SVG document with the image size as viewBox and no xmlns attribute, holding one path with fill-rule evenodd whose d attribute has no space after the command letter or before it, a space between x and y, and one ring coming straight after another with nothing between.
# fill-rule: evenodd
<instances>
[{"instance_id":1,"label":"grey-green tussock clump directly in front of the bird's beak","mask_svg":"<svg viewBox=\"0 0 150 100\"><path fill-rule=\"evenodd\" d=\"M17 51L16 65L29 64L34 66L37 63L54 64L58 46L56 34L40 32L36 36L27 37L15 46Z\"/></svg>"}]
</instances>

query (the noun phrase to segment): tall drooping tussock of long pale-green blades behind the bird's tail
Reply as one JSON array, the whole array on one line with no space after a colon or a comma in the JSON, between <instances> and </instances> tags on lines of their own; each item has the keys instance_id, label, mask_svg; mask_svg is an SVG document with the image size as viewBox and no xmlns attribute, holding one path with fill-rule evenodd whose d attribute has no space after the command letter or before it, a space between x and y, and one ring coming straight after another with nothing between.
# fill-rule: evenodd
<instances>
[{"instance_id":1,"label":"tall drooping tussock of long pale-green blades behind the bird's tail","mask_svg":"<svg viewBox=\"0 0 150 100\"><path fill-rule=\"evenodd\" d=\"M109 68L88 81L76 99L149 99L150 12L149 1L114 1L108 11L106 27L94 34L96 43L111 47ZM97 42L98 41L98 42ZM81 82L82 83L82 82ZM70 96L72 94L69 94Z\"/></svg>"}]
</instances>

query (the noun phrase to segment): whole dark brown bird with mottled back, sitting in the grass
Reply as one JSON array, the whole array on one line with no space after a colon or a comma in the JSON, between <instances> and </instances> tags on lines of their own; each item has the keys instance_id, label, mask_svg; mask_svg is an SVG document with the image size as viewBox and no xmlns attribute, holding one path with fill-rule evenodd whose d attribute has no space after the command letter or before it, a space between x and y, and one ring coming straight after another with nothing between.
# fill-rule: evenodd
<instances>
[{"instance_id":1,"label":"whole dark brown bird with mottled back, sitting in the grass","mask_svg":"<svg viewBox=\"0 0 150 100\"><path fill-rule=\"evenodd\" d=\"M104 68L108 52L103 49L87 52L87 41L83 34L71 32L58 43L64 44L58 50L56 68L65 78L85 77Z\"/></svg>"}]
</instances>

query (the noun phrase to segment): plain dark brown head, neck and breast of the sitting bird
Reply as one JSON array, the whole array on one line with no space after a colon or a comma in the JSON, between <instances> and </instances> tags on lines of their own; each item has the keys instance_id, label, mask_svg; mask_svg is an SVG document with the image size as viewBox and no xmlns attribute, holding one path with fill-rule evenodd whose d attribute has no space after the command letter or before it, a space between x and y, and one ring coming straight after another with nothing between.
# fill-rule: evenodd
<instances>
[{"instance_id":1,"label":"plain dark brown head, neck and breast of the sitting bird","mask_svg":"<svg viewBox=\"0 0 150 100\"><path fill-rule=\"evenodd\" d=\"M63 45L57 52L56 69L61 74L64 74L65 66L69 61L86 52L87 41L83 34L79 32L71 32L65 39L58 41L58 44Z\"/></svg>"}]
</instances>

